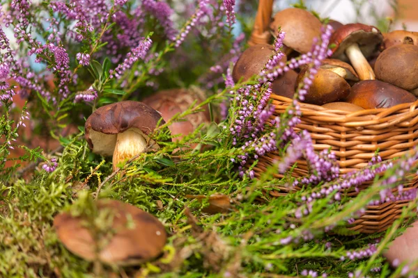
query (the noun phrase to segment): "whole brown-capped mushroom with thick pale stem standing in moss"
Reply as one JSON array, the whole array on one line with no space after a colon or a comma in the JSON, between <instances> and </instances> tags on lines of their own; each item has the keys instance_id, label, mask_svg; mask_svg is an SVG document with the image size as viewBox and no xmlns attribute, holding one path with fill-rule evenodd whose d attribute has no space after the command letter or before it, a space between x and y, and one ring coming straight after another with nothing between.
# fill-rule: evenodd
<instances>
[{"instance_id":1,"label":"whole brown-capped mushroom with thick pale stem standing in moss","mask_svg":"<svg viewBox=\"0 0 418 278\"><path fill-rule=\"evenodd\" d=\"M113 168L148 149L159 146L148 135L157 128L160 113L139 101L120 101L98 108L85 124L93 153L113 155ZM160 124L164 124L161 119Z\"/></svg>"}]
</instances>

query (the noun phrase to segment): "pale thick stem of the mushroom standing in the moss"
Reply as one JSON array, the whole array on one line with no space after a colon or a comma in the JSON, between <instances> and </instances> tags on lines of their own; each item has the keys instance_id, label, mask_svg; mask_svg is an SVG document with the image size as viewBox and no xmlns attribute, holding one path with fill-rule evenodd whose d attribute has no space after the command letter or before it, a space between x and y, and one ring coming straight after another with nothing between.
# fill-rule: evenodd
<instances>
[{"instance_id":1,"label":"pale thick stem of the mushroom standing in the moss","mask_svg":"<svg viewBox=\"0 0 418 278\"><path fill-rule=\"evenodd\" d=\"M135 129L128 129L119 133L116 139L116 146L113 154L113 170L118 168L118 164L126 162L130 158L144 152L148 142L144 133Z\"/></svg>"}]
</instances>

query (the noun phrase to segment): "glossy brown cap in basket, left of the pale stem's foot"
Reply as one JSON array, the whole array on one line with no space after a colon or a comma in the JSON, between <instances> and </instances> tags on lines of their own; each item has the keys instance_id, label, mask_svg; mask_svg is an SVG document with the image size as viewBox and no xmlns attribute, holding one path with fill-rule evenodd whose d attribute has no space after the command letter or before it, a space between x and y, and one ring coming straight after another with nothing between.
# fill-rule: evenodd
<instances>
[{"instance_id":1,"label":"glossy brown cap in basket, left of the pale stem's foot","mask_svg":"<svg viewBox=\"0 0 418 278\"><path fill-rule=\"evenodd\" d=\"M297 75L296 86L304 79L306 71L307 67L302 67L300 73ZM314 76L312 85L307 95L305 95L303 102L323 105L343 99L348 94L350 94L350 85L346 79L331 70L319 69L318 73Z\"/></svg>"}]
</instances>

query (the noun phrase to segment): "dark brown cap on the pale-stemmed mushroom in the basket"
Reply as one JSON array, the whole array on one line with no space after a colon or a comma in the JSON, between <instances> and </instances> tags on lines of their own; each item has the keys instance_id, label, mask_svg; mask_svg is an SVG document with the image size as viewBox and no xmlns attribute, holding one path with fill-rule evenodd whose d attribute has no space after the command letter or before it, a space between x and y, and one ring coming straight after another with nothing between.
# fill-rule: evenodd
<instances>
[{"instance_id":1,"label":"dark brown cap on the pale-stemmed mushroom in the basket","mask_svg":"<svg viewBox=\"0 0 418 278\"><path fill-rule=\"evenodd\" d=\"M346 24L331 35L330 45L335 44L332 48L332 58L348 62L345 51L354 43L359 45L363 56L368 58L378 50L382 40L382 33L375 26L359 23Z\"/></svg>"}]
</instances>

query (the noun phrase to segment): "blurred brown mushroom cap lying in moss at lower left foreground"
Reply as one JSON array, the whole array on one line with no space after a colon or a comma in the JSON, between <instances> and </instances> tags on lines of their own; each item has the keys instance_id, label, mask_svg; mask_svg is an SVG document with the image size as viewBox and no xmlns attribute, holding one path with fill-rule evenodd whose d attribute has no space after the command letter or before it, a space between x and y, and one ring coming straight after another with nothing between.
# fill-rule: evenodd
<instances>
[{"instance_id":1,"label":"blurred brown mushroom cap lying in moss at lower left foreground","mask_svg":"<svg viewBox=\"0 0 418 278\"><path fill-rule=\"evenodd\" d=\"M116 265L143 263L161 254L167 233L155 216L116 200L100 199L97 205L98 211L109 209L114 213L112 231L109 232L111 237L96 239L85 227L86 219L60 213L54 218L54 228L68 250L93 261L100 246L98 259L102 263ZM101 245L103 243L104 246Z\"/></svg>"}]
</instances>

